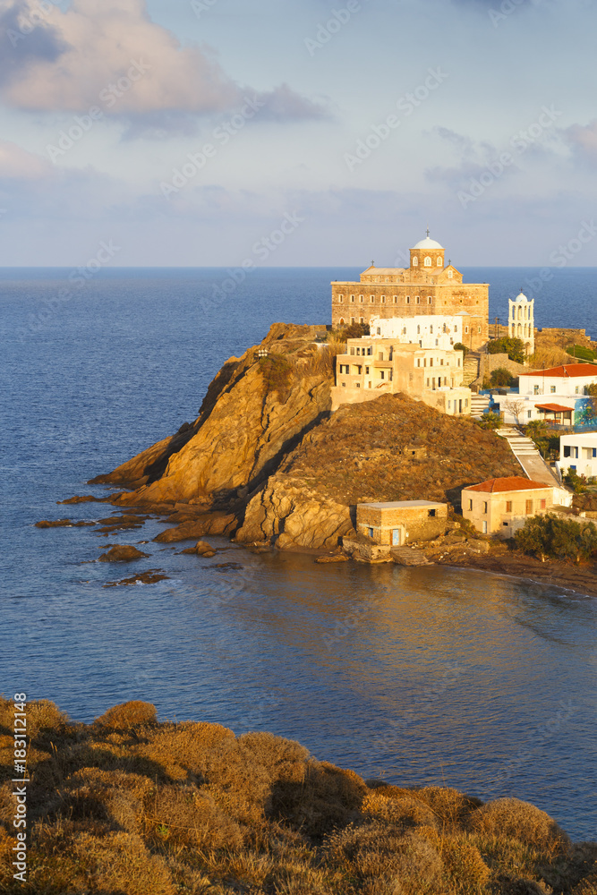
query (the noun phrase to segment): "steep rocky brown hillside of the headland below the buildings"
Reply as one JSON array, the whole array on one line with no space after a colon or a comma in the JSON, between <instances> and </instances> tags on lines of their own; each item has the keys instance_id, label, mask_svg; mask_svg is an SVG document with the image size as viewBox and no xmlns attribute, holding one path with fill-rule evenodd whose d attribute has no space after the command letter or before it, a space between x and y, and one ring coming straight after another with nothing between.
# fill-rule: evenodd
<instances>
[{"instance_id":1,"label":"steep rocky brown hillside of the headland below the buildings","mask_svg":"<svg viewBox=\"0 0 597 895\"><path fill-rule=\"evenodd\" d=\"M224 512L237 541L292 550L336 547L353 533L360 500L457 504L463 485L519 472L492 432L406 396L332 414L337 345L315 344L317 332L274 324L260 346L225 363L194 422L92 481L132 489L116 506L177 504L184 517L173 521L201 516L201 533L211 530L206 513Z\"/></svg>"}]
</instances>

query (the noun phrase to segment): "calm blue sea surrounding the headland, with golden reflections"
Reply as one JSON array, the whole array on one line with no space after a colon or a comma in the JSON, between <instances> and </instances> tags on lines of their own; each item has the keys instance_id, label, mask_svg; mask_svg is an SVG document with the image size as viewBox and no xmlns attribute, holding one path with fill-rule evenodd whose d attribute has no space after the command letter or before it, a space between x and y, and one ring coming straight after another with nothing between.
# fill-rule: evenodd
<instances>
[{"instance_id":1,"label":"calm blue sea surrounding the headland, with golden reflections","mask_svg":"<svg viewBox=\"0 0 597 895\"><path fill-rule=\"evenodd\" d=\"M594 838L597 601L499 575L236 547L201 560L150 543L123 571L90 562L105 543L92 528L33 527L109 515L55 501L192 420L221 363L269 322L326 322L329 280L358 271L263 269L224 302L211 297L223 270L104 271L56 303L69 273L0 270L0 690L79 720L142 698L163 718L272 730L365 776L532 800ZM465 270L490 282L502 319L532 277ZM597 337L596 291L596 270L554 271L535 293L538 325ZM224 560L243 568L214 568ZM102 587L148 567L170 580Z\"/></svg>"}]
</instances>

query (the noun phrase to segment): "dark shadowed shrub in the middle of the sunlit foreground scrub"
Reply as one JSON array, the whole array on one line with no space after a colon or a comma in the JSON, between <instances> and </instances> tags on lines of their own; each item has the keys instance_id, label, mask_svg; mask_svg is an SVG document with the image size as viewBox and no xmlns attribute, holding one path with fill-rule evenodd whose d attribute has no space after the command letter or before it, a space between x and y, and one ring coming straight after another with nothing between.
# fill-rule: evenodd
<instances>
[{"instance_id":1,"label":"dark shadowed shrub in the middle of the sunlit foreground scrub","mask_svg":"<svg viewBox=\"0 0 597 895\"><path fill-rule=\"evenodd\" d=\"M368 792L358 774L313 760L305 771L303 782L282 782L277 786L272 814L284 817L294 828L315 839L356 819Z\"/></svg>"}]
</instances>

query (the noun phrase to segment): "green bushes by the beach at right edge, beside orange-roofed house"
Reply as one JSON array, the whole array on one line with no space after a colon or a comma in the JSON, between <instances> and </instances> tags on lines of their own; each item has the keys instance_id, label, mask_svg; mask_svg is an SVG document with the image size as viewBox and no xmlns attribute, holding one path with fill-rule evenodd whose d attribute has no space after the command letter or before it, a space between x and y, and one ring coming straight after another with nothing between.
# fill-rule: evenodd
<instances>
[{"instance_id":1,"label":"green bushes by the beach at right edge, beside orange-roofed house","mask_svg":"<svg viewBox=\"0 0 597 895\"><path fill-rule=\"evenodd\" d=\"M516 546L533 553L542 562L547 558L590 559L597 555L597 528L554 514L533 516L515 535Z\"/></svg>"}]
</instances>

